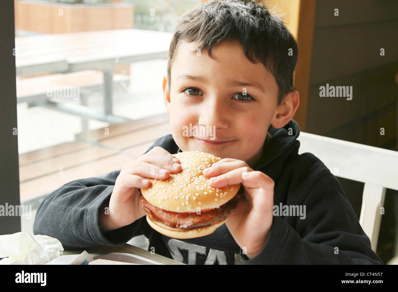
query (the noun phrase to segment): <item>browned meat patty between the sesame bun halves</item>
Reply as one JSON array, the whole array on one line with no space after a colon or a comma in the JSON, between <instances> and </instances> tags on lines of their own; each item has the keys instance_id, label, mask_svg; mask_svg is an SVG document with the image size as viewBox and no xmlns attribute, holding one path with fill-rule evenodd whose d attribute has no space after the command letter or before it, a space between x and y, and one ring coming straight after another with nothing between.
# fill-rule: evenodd
<instances>
[{"instance_id":1,"label":"browned meat patty between the sesame bun halves","mask_svg":"<svg viewBox=\"0 0 398 292\"><path fill-rule=\"evenodd\" d=\"M158 220L172 228L181 228L186 230L226 220L228 216L234 212L239 198L240 195L236 194L235 197L230 199L230 201L224 205L221 205L219 208L207 212L201 212L201 214L177 213L162 210L149 203L142 194L141 205L142 209L144 209L146 215L149 216L150 219Z\"/></svg>"}]
</instances>

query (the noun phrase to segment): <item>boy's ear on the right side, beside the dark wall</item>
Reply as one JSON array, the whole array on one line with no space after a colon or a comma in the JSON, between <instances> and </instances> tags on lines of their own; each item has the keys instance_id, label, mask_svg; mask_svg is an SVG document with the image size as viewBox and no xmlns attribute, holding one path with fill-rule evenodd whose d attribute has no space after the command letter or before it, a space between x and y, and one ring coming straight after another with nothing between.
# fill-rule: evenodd
<instances>
[{"instance_id":1,"label":"boy's ear on the right side, beside the dark wall","mask_svg":"<svg viewBox=\"0 0 398 292\"><path fill-rule=\"evenodd\" d=\"M300 98L298 97L298 91L294 90L288 93L285 96L285 101L277 106L271 125L275 129L283 128L293 118L299 104Z\"/></svg>"}]
</instances>

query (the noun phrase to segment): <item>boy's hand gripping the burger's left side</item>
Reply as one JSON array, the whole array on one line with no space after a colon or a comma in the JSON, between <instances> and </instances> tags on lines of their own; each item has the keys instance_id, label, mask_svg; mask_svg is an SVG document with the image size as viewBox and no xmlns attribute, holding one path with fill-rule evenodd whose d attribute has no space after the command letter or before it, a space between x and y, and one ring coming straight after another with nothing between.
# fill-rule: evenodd
<instances>
[{"instance_id":1,"label":"boy's hand gripping the burger's left side","mask_svg":"<svg viewBox=\"0 0 398 292\"><path fill-rule=\"evenodd\" d=\"M151 183L144 179L166 180L170 173L178 173L181 170L179 159L159 146L127 162L116 178L109 200L109 214L105 214L101 209L101 230L104 232L115 230L145 216L140 202L140 188L149 188Z\"/></svg>"}]
</instances>

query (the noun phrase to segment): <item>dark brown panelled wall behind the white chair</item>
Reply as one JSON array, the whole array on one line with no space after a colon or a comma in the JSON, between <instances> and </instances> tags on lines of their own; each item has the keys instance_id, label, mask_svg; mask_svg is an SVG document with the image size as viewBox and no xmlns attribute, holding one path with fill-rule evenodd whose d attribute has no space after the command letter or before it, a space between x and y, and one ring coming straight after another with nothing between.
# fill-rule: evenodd
<instances>
[{"instance_id":1,"label":"dark brown panelled wall behind the white chair","mask_svg":"<svg viewBox=\"0 0 398 292\"><path fill-rule=\"evenodd\" d=\"M397 35L398 1L316 2L306 132L398 150ZM326 83L352 86L352 100L320 97L319 87ZM338 179L359 219L364 184ZM386 191L377 247L384 263L393 256L397 196Z\"/></svg>"}]
</instances>

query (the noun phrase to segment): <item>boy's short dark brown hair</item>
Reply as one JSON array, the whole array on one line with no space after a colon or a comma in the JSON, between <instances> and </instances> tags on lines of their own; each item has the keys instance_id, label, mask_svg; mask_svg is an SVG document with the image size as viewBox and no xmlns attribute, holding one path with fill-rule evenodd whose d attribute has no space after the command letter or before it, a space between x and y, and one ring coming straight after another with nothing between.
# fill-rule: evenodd
<instances>
[{"instance_id":1,"label":"boy's short dark brown hair","mask_svg":"<svg viewBox=\"0 0 398 292\"><path fill-rule=\"evenodd\" d=\"M178 19L170 43L167 78L171 85L171 67L179 41L197 42L201 50L212 48L224 40L238 40L246 58L261 62L275 77L279 87L278 105L293 91L297 42L283 21L269 14L264 4L255 0L213 0L185 11ZM293 56L289 56L289 48Z\"/></svg>"}]
</instances>

